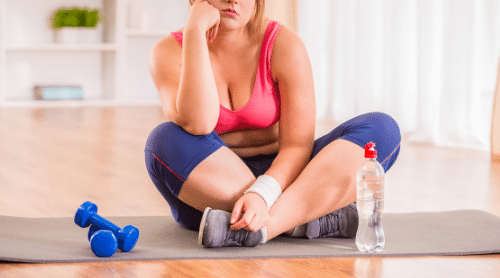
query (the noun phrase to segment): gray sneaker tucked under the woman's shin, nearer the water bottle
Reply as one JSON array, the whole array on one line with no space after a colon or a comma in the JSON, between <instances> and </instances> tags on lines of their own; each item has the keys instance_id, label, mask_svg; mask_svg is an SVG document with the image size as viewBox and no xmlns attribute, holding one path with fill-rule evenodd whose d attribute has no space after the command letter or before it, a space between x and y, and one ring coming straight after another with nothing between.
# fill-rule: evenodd
<instances>
[{"instance_id":1,"label":"gray sneaker tucked under the woman's shin, nearer the water bottle","mask_svg":"<svg viewBox=\"0 0 500 278\"><path fill-rule=\"evenodd\" d=\"M322 216L307 223L306 236L318 237L354 237L358 230L359 218L356 203Z\"/></svg>"}]
</instances>

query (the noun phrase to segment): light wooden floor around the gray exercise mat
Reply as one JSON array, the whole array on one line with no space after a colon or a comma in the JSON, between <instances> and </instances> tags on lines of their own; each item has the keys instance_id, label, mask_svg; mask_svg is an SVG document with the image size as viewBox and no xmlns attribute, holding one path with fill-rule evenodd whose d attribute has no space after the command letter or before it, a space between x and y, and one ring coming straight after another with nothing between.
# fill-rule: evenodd
<instances>
[{"instance_id":1,"label":"light wooden floor around the gray exercise mat","mask_svg":"<svg viewBox=\"0 0 500 278\"><path fill-rule=\"evenodd\" d=\"M149 132L164 120L155 106L1 108L0 215L73 217L86 200L104 216L169 214L143 154ZM317 135L332 127L320 123ZM407 141L387 173L386 212L500 216L500 164L488 152ZM0 264L0 277L186 276L500 277L500 255Z\"/></svg>"}]
</instances>

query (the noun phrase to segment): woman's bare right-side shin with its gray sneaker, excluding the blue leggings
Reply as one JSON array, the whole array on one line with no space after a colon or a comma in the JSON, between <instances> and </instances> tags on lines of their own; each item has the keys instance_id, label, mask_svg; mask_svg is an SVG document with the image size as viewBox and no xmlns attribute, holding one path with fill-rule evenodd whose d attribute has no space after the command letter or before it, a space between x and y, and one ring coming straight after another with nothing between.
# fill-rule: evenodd
<instances>
[{"instance_id":1,"label":"woman's bare right-side shin with its gray sneaker, excluding the blue leggings","mask_svg":"<svg viewBox=\"0 0 500 278\"><path fill-rule=\"evenodd\" d=\"M270 240L354 202L355 176L364 162L363 154L364 149L346 140L328 144L273 204L264 239ZM230 213L208 214L200 227L199 242L207 247L255 246L260 242L260 231L229 230L230 217Z\"/></svg>"}]
</instances>

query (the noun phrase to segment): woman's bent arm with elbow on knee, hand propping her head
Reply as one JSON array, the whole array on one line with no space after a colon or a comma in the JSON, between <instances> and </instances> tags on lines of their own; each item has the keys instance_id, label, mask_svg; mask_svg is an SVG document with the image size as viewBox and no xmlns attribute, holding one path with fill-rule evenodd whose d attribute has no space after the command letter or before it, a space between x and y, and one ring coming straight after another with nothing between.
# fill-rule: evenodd
<instances>
[{"instance_id":1,"label":"woman's bent arm with elbow on knee, hand propping her head","mask_svg":"<svg viewBox=\"0 0 500 278\"><path fill-rule=\"evenodd\" d=\"M207 1L198 1L191 7L183 30L182 49L168 37L150 54L151 76L165 115L196 135L212 132L219 117L219 96L207 43L207 32L214 28L216 32L219 20L219 10Z\"/></svg>"}]
</instances>

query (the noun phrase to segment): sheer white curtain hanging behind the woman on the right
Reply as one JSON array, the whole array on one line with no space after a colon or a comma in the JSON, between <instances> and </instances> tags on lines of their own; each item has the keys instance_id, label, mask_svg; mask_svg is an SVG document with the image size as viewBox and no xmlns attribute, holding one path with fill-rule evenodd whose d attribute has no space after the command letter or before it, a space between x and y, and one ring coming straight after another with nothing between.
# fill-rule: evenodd
<instances>
[{"instance_id":1,"label":"sheer white curtain hanging behind the woman on the right","mask_svg":"<svg viewBox=\"0 0 500 278\"><path fill-rule=\"evenodd\" d=\"M298 0L319 120L393 116L414 142L489 150L499 0Z\"/></svg>"}]
</instances>

